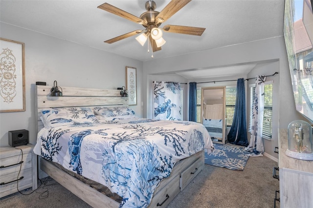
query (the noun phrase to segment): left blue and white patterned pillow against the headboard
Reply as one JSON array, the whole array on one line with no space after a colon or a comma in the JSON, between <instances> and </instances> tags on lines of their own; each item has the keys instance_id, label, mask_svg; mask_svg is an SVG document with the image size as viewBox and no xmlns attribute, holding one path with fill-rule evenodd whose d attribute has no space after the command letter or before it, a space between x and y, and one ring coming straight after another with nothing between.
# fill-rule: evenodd
<instances>
[{"instance_id":1,"label":"left blue and white patterned pillow against the headboard","mask_svg":"<svg viewBox=\"0 0 313 208\"><path fill-rule=\"evenodd\" d=\"M46 128L99 122L89 107L48 108L43 109L41 114L41 119Z\"/></svg>"}]
</instances>

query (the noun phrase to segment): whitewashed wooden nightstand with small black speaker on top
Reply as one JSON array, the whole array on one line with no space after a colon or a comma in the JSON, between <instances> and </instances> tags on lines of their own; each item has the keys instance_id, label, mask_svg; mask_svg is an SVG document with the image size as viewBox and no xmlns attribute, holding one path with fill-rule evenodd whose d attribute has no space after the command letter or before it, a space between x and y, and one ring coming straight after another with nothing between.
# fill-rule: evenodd
<instances>
[{"instance_id":1,"label":"whitewashed wooden nightstand with small black speaker on top","mask_svg":"<svg viewBox=\"0 0 313 208\"><path fill-rule=\"evenodd\" d=\"M0 147L0 198L18 192L17 184L20 191L37 188L37 155L33 148L31 144Z\"/></svg>"}]
</instances>

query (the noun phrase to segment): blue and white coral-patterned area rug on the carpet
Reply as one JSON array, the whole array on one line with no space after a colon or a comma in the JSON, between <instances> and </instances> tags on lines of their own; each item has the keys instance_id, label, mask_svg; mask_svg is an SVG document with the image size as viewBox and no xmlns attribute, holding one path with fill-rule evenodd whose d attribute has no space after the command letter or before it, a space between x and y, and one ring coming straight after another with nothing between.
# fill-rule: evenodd
<instances>
[{"instance_id":1,"label":"blue and white coral-patterned area rug on the carpet","mask_svg":"<svg viewBox=\"0 0 313 208\"><path fill-rule=\"evenodd\" d=\"M225 167L231 170L244 170L251 152L244 146L231 146L214 143L211 153L204 154L204 163L211 166Z\"/></svg>"}]
</instances>

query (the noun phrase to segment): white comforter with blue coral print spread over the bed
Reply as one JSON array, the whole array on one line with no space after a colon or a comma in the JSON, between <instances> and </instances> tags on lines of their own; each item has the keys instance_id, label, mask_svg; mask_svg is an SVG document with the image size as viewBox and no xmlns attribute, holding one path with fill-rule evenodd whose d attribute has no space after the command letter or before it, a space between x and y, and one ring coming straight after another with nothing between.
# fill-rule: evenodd
<instances>
[{"instance_id":1,"label":"white comforter with blue coral print spread over the bed","mask_svg":"<svg viewBox=\"0 0 313 208\"><path fill-rule=\"evenodd\" d=\"M176 162L212 146L201 124L134 118L43 128L34 152L147 207Z\"/></svg>"}]
</instances>

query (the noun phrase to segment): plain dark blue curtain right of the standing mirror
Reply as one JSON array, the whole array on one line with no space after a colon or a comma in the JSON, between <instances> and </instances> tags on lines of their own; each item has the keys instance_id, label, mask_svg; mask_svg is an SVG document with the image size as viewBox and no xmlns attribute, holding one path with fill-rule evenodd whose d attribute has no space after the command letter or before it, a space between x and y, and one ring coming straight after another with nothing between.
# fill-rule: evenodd
<instances>
[{"instance_id":1,"label":"plain dark blue curtain right of the standing mirror","mask_svg":"<svg viewBox=\"0 0 313 208\"><path fill-rule=\"evenodd\" d=\"M227 135L227 139L229 143L234 145L249 145L246 135L246 94L244 78L237 80L234 119Z\"/></svg>"}]
</instances>

